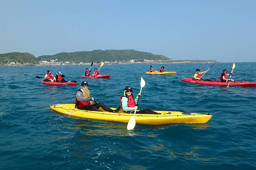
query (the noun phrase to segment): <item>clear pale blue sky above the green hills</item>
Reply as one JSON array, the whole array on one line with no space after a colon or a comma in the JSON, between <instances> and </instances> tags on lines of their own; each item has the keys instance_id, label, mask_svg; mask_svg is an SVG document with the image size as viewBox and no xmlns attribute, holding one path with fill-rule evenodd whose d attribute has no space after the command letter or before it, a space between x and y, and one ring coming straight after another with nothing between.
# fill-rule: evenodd
<instances>
[{"instance_id":1,"label":"clear pale blue sky above the green hills","mask_svg":"<svg viewBox=\"0 0 256 170\"><path fill-rule=\"evenodd\" d=\"M256 62L256 0L2 0L0 54L134 49Z\"/></svg>"}]
</instances>

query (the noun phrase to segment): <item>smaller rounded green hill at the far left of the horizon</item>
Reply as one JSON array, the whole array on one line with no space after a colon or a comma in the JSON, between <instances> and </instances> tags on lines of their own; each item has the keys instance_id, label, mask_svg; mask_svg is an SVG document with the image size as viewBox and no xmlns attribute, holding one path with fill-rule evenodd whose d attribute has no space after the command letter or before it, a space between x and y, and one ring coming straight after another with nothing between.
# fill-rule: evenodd
<instances>
[{"instance_id":1,"label":"smaller rounded green hill at the far left of the horizon","mask_svg":"<svg viewBox=\"0 0 256 170\"><path fill-rule=\"evenodd\" d=\"M0 62L7 62L7 61L20 62L21 64L24 64L24 63L39 64L38 59L36 59L35 56L30 53L12 52L12 53L0 54Z\"/></svg>"}]
</instances>

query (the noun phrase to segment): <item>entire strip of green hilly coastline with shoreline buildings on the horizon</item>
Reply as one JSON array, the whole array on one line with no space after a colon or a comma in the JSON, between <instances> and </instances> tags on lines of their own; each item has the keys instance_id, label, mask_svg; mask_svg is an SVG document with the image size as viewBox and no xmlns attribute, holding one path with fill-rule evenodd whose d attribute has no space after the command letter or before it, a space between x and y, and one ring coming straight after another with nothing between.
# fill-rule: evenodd
<instances>
[{"instance_id":1,"label":"entire strip of green hilly coastline with shoreline buildings on the horizon","mask_svg":"<svg viewBox=\"0 0 256 170\"><path fill-rule=\"evenodd\" d=\"M58 62L101 62L101 61L129 61L130 59L148 59L154 60L154 62L215 62L215 60L183 60L175 59L171 60L163 55L154 55L152 53L135 51L135 50L93 50L93 51L77 51L71 53L58 53L54 55L44 55L35 58L33 54L12 52L6 54L0 54L0 62L6 63L20 62L21 64L33 63L39 64L39 61L50 61L51 59L58 59Z\"/></svg>"}]
</instances>

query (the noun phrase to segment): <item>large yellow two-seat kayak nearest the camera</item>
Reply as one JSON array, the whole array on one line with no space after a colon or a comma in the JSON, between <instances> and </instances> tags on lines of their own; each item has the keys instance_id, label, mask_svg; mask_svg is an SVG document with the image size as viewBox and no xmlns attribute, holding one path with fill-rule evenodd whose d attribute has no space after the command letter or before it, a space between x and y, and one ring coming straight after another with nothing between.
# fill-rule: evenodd
<instances>
[{"instance_id":1,"label":"large yellow two-seat kayak nearest the camera","mask_svg":"<svg viewBox=\"0 0 256 170\"><path fill-rule=\"evenodd\" d=\"M84 111L75 108L75 104L52 105L52 111L69 116L82 117L87 119L107 120L116 122L129 122L133 114L125 113L120 109L117 113L103 111ZM112 108L115 110L115 108ZM206 123L212 115L208 113L183 113L179 111L155 111L161 114L136 114L135 119L138 124L161 125L169 123Z\"/></svg>"}]
</instances>

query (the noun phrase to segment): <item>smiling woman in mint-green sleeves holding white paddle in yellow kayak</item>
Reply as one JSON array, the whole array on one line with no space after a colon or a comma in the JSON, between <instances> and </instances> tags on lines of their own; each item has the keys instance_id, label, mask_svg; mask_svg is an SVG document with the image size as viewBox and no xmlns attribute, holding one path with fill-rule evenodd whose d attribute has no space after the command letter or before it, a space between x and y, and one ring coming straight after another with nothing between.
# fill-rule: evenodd
<instances>
[{"instance_id":1,"label":"smiling woman in mint-green sleeves holding white paddle in yellow kayak","mask_svg":"<svg viewBox=\"0 0 256 170\"><path fill-rule=\"evenodd\" d=\"M133 114L134 110L138 108L138 106L136 104L138 102L139 96L141 96L140 93L138 94L136 99L134 99L134 96L132 95L131 87L126 86L125 91L124 91L124 95L120 97L120 103L121 103L122 110L125 111L126 113L132 113ZM137 111L136 113L160 114L160 113L152 111L151 109L145 109L145 110Z\"/></svg>"}]
</instances>

